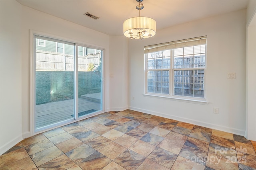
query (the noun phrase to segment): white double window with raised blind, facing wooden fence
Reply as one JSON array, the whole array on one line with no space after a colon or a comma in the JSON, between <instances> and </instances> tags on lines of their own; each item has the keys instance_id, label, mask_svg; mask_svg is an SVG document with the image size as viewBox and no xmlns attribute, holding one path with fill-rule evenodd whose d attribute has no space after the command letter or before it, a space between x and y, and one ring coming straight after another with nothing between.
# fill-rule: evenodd
<instances>
[{"instance_id":1,"label":"white double window with raised blind, facing wooden fence","mask_svg":"<svg viewBox=\"0 0 256 170\"><path fill-rule=\"evenodd\" d=\"M146 94L206 99L206 36L145 47Z\"/></svg>"}]
</instances>

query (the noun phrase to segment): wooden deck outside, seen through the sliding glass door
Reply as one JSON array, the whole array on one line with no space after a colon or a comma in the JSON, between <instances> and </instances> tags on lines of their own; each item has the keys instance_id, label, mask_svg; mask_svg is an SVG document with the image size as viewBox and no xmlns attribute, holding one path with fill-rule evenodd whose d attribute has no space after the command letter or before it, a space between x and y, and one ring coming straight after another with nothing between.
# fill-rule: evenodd
<instances>
[{"instance_id":1,"label":"wooden deck outside, seen through the sliding glass door","mask_svg":"<svg viewBox=\"0 0 256 170\"><path fill-rule=\"evenodd\" d=\"M100 103L78 98L78 113L91 109L100 110ZM36 129L60 121L73 119L73 114L73 99L36 105Z\"/></svg>"}]
</instances>

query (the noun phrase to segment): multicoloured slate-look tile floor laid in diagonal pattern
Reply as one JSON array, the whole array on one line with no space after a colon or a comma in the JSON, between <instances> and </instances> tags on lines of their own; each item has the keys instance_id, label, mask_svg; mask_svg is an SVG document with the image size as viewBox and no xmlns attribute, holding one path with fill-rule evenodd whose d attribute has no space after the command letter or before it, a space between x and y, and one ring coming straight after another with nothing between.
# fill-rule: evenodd
<instances>
[{"instance_id":1,"label":"multicoloured slate-look tile floor laid in diagonal pattern","mask_svg":"<svg viewBox=\"0 0 256 170\"><path fill-rule=\"evenodd\" d=\"M128 109L24 139L0 156L18 169L256 170L256 142Z\"/></svg>"}]
</instances>

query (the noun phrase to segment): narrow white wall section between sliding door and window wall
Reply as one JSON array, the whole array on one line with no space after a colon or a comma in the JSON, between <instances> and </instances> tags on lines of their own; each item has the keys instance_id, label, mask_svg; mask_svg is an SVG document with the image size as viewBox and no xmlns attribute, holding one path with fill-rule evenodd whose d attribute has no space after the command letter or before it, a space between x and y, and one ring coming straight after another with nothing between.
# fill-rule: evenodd
<instances>
[{"instance_id":1,"label":"narrow white wall section between sliding door and window wall","mask_svg":"<svg viewBox=\"0 0 256 170\"><path fill-rule=\"evenodd\" d=\"M127 109L128 41L124 36L110 36L110 111Z\"/></svg>"}]
</instances>

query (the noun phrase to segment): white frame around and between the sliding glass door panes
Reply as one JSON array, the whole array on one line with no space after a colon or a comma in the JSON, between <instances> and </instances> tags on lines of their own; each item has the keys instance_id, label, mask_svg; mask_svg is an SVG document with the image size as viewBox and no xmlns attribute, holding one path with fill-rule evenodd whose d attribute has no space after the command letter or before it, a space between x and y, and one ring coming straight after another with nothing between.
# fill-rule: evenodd
<instances>
[{"instance_id":1,"label":"white frame around and between the sliding glass door panes","mask_svg":"<svg viewBox=\"0 0 256 170\"><path fill-rule=\"evenodd\" d=\"M88 44L88 43L84 43L84 42L79 42L73 39L68 39L68 38L63 38L63 37L59 37L50 33L44 33L44 32L40 32L40 31L36 31L33 29L30 29L30 136L42 133L44 131L48 131L52 128L56 128L56 127L60 127L69 123L74 123L77 122L79 120L82 120L86 117L78 117L76 116L76 119L72 120L72 121L62 121L60 123L55 123L52 127L47 127L46 128L42 128L42 129L38 129L36 130L36 120L35 120L35 104L36 104L36 59L35 59L35 54L36 54L36 44L37 42L35 41L35 37L44 37L44 40L57 40L60 43L74 43L76 46L78 45L84 45L86 47L89 48L95 48L98 50L102 51L102 108L100 111L96 112L96 113L92 113L90 116L99 114L99 113L104 113L105 112L105 51L106 49L104 47L99 47L99 46L95 46L93 44ZM39 38L40 39L40 38ZM78 56L77 56L77 52L78 49L75 50L76 53L76 59L75 59L75 63L78 63ZM74 72L76 72L76 75L78 75L78 67L75 64L75 70ZM78 80L78 76L75 77L75 79ZM76 80L76 81L77 81ZM78 86L78 82L76 82L76 86ZM76 89L78 89L78 87L76 87ZM76 90L76 93L78 93L78 90ZM76 100L78 98L78 95L76 94ZM78 104L78 103L77 103ZM78 105L76 105L78 106ZM75 108L78 111L78 108ZM77 114L76 111L76 114Z\"/></svg>"}]
</instances>

